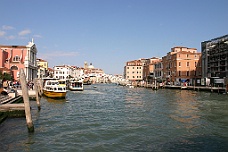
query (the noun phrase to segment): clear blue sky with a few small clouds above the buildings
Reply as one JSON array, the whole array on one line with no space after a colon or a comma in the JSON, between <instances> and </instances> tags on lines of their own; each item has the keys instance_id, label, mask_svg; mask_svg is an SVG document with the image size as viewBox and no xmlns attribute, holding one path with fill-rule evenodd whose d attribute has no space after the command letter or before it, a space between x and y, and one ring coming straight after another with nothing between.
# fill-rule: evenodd
<instances>
[{"instance_id":1,"label":"clear blue sky with a few small clouds above the buildings","mask_svg":"<svg viewBox=\"0 0 228 152\"><path fill-rule=\"evenodd\" d=\"M0 44L32 38L49 67L85 61L122 74L127 61L197 48L228 34L228 0L1 0Z\"/></svg>"}]
</instances>

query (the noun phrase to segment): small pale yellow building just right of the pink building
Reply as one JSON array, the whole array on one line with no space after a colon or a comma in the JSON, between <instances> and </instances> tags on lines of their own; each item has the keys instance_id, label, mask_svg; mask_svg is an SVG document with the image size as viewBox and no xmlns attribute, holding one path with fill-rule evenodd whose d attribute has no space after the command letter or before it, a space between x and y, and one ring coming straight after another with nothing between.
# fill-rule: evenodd
<instances>
[{"instance_id":1,"label":"small pale yellow building just right of the pink building","mask_svg":"<svg viewBox=\"0 0 228 152\"><path fill-rule=\"evenodd\" d=\"M48 76L48 62L43 59L36 59L37 77L43 78Z\"/></svg>"}]
</instances>

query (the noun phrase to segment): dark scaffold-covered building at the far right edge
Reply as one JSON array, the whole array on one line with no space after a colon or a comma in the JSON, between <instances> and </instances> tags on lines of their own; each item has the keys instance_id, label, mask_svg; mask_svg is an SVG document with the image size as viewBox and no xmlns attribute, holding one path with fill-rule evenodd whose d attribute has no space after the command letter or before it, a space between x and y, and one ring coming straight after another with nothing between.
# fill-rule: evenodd
<instances>
[{"instance_id":1,"label":"dark scaffold-covered building at the far right edge","mask_svg":"<svg viewBox=\"0 0 228 152\"><path fill-rule=\"evenodd\" d=\"M202 77L228 78L228 35L201 42Z\"/></svg>"}]
</instances>

